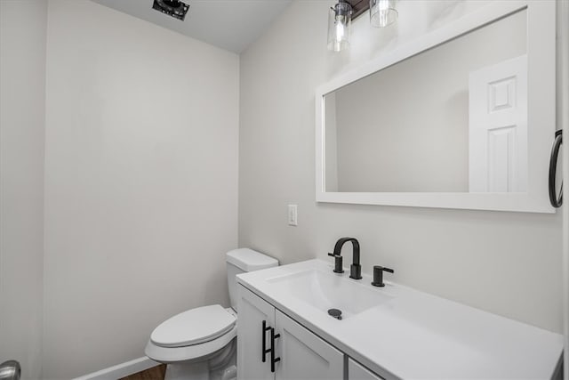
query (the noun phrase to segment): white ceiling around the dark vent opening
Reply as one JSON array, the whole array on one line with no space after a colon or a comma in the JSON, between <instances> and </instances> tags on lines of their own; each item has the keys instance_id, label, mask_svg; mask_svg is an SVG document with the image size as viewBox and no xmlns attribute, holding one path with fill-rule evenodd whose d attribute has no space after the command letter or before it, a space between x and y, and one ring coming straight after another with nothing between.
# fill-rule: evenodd
<instances>
[{"instance_id":1,"label":"white ceiling around the dark vent opening","mask_svg":"<svg viewBox=\"0 0 569 380\"><path fill-rule=\"evenodd\" d=\"M183 35L241 53L292 0L183 0L186 20L152 9L153 0L92 0Z\"/></svg>"}]
</instances>

